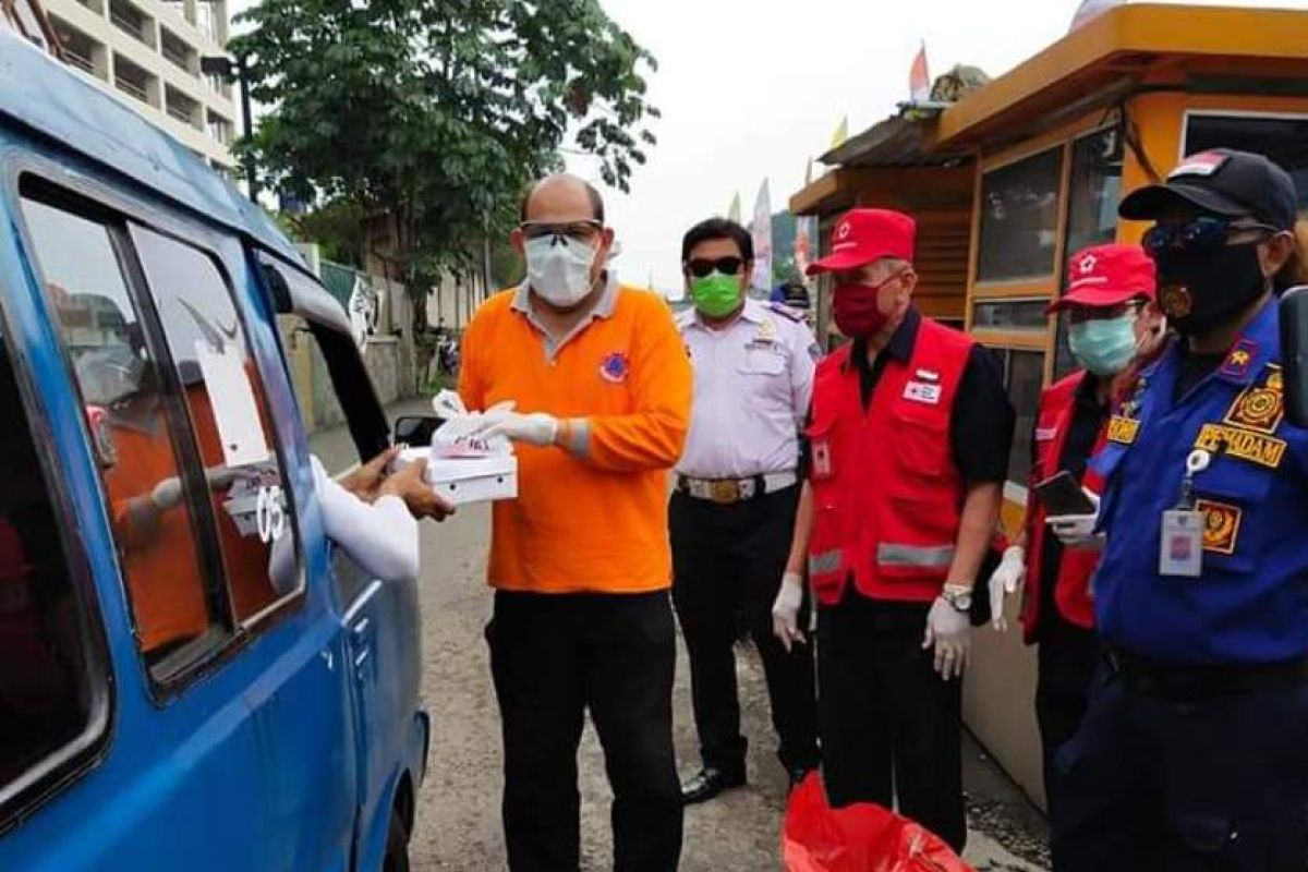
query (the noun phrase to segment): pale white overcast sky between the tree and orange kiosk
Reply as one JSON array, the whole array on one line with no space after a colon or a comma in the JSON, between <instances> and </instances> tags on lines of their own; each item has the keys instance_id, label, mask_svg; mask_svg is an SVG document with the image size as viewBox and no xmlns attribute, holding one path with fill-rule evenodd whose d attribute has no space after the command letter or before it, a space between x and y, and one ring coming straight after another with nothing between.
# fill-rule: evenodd
<instances>
[{"instance_id":1,"label":"pale white overcast sky between the tree and orange kiosk","mask_svg":"<svg viewBox=\"0 0 1308 872\"><path fill-rule=\"evenodd\" d=\"M772 209L803 186L845 115L850 136L908 98L918 42L931 76L957 63L998 77L1067 31L1080 0L600 0L659 61L650 98L659 143L630 195L607 192L634 284L680 285L681 234L725 214L746 222L770 179ZM1194 0L1192 0L1193 3ZM1202 1L1202 0L1201 0ZM1205 5L1305 8L1308 0ZM595 162L570 167L598 183ZM821 170L815 166L815 175Z\"/></svg>"}]
</instances>

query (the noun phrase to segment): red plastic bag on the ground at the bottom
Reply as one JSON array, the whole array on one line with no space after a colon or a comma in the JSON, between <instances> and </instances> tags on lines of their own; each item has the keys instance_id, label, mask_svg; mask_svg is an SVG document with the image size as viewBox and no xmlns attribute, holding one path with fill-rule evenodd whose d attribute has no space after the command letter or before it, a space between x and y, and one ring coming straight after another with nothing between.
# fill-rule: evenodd
<instances>
[{"instance_id":1,"label":"red plastic bag on the ground at the bottom","mask_svg":"<svg viewBox=\"0 0 1308 872\"><path fill-rule=\"evenodd\" d=\"M812 773L790 795L786 872L974 872L922 825L874 803L833 809Z\"/></svg>"}]
</instances>

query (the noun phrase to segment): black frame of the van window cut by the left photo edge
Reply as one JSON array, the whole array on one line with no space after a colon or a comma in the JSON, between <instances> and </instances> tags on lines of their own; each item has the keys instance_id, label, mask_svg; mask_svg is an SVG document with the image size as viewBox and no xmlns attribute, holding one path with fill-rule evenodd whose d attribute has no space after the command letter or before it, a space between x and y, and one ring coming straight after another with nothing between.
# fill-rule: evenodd
<instances>
[{"instance_id":1,"label":"black frame of the van window cut by the left photo edge","mask_svg":"<svg viewBox=\"0 0 1308 872\"><path fill-rule=\"evenodd\" d=\"M25 255L31 254L29 237L20 210L18 176L25 161L10 161L16 170L3 179L4 197L8 208L18 216L18 239ZM35 271L33 271L33 275ZM26 284L26 282L24 282ZM30 290L25 288L24 290ZM41 476L50 499L51 511L59 522L60 556L68 573L68 584L77 609L77 641L82 646L84 680L89 693L86 723L77 736L59 748L52 749L39 761L30 765L16 779L0 784L0 835L18 826L37 808L51 801L94 770L107 756L118 713L118 684L110 655L109 631L105 626L105 613L95 587L90 556L85 543L72 531L77 529L77 512L67 482L61 475L55 434L50 426L50 409L37 390L34 373L29 366L29 339L16 328L12 314L13 303L7 294L0 294L0 354L4 354L13 367L18 399L22 403L27 421L26 426L34 442ZM42 298L44 309L44 299ZM61 337L58 336L61 343ZM65 369L65 379L72 377ZM80 421L81 443L86 463L97 468L92 450L90 431L86 421ZM98 477L98 476L97 476Z\"/></svg>"}]
</instances>

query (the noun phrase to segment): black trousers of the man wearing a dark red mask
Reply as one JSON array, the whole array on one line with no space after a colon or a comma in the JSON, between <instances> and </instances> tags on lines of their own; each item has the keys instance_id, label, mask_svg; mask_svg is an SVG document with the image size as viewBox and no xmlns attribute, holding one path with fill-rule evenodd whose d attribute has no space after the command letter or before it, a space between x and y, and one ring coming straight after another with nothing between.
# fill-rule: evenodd
<instances>
[{"instance_id":1,"label":"black trousers of the man wearing a dark red mask","mask_svg":"<svg viewBox=\"0 0 1308 872\"><path fill-rule=\"evenodd\" d=\"M963 808L963 682L944 681L922 650L927 605L870 600L850 584L818 608L818 713L823 779L836 808L878 803L955 850Z\"/></svg>"}]
</instances>

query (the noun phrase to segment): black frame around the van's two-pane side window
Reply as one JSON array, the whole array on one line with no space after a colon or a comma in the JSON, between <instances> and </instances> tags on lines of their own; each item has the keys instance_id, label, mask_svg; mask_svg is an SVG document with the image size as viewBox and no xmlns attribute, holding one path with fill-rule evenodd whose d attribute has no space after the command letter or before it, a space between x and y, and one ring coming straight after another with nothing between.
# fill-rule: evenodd
<instances>
[{"instance_id":1,"label":"black frame around the van's two-pane side window","mask_svg":"<svg viewBox=\"0 0 1308 872\"><path fill-rule=\"evenodd\" d=\"M165 401L171 404L175 401L178 409L184 418L186 431L192 434L188 441L190 447L187 451L192 451L195 456L184 456L182 473L187 477L194 476L192 493L205 493L207 488L200 486L200 477L203 469L203 463L199 458L199 446L195 443L194 431L190 421L190 412L184 408L184 400L181 394L177 366L173 362L171 352L167 348L167 340L164 335L164 326L160 323L157 306L154 303L153 293L149 284L145 281L144 268L136 254L136 247L132 244L131 234L128 230L129 224L137 224L148 230L152 230L164 237L175 239L181 244L188 244L192 248L200 251L208 256L218 271L222 273L224 281L228 282L228 292L232 294L232 302L237 311L237 318L241 322L241 328L247 340L250 341L249 322L242 306L235 299L233 294L234 286L232 285L232 272L229 264L218 254L217 246L212 244L216 237L228 235L234 243L245 244L247 242L247 235L232 227L215 229L213 226L205 225L192 216L190 216L183 208L169 200L158 200L157 207L146 210L141 200L132 200L111 187L89 178L85 174L76 173L68 166L51 161L48 158L25 154L20 159L12 162L10 170L7 173L5 186L7 192L10 196L16 214L18 216L18 231L20 238L27 252L34 252L35 248L31 244L31 237L27 231L26 221L24 220L21 212L22 192L21 187L25 183L33 183L42 188L43 191L54 192L58 197L67 199L64 205L56 205L55 208L69 208L75 213L82 217L98 216L98 220L112 222L118 221L122 226L114 227L111 224L106 224L110 229L111 237L120 231L123 239L126 241L126 252L129 255L127 263L124 263L124 281L128 285L128 290L132 294L132 301L143 306L143 332L146 336L146 341L150 344L150 352L156 356L156 365L160 367L160 379L162 386L162 394ZM41 199L41 197L37 197ZM48 203L48 199L46 200ZM119 252L122 256L122 252ZM39 260L33 258L35 272L39 272ZM262 288L260 288L262 290ZM50 319L48 299L44 298L42 292L42 305L46 310L46 318ZM51 324L54 322L50 322ZM69 384L75 390L77 387L77 380L72 370L72 358L68 352L67 344L63 335L55 329L55 339L59 343L60 356L64 360L65 374ZM158 348L156 348L158 344ZM279 344L280 348L280 344ZM254 358L255 367L259 371L260 378L267 382L266 366L260 362L258 354L251 350L251 357ZM171 416L171 408L169 414ZM171 421L171 417L170 417ZM86 430L86 422L81 422L84 438L89 438ZM276 429L276 424L273 424ZM289 475L293 467L286 463L286 452L283 446L283 439L275 439L275 454L277 456L277 463L284 475ZM86 443L88 450L92 443ZM93 459L94 463L94 459ZM106 511L109 505L107 494L105 492L105 482L101 477L98 481L98 489L101 494L101 512ZM150 702L157 707L162 709L169 705L174 698L184 694L190 688L192 688L201 679L220 672L229 663L232 663L246 647L249 647L254 641L259 639L275 626L280 625L286 617L294 612L303 612L305 604L307 601L307 567L305 565L305 550L303 543L300 541L300 524L298 524L298 509L294 499L294 489L285 489L286 507L289 511L288 523L294 527L296 535L296 565L297 574L300 577L296 591L276 600L267 609L259 614L252 616L250 620L241 622L234 611L232 603L230 590L226 578L226 567L222 565L221 545L218 544L218 531L217 523L212 514L212 505L205 499L190 499L187 506L198 518L201 519L203 531L198 540L198 550L203 554L201 557L201 571L207 575L211 571L208 566L212 549L212 554L217 560L217 580L220 582L220 594L224 599L224 613L222 618L226 621L226 633L218 645L213 650L208 651L204 658L196 659L194 663L187 664L177 673L169 676L165 680L157 680L150 675L149 665L145 663L144 652L140 646L133 641L133 648L136 654L136 663L140 667L141 675L145 677L145 685L149 693ZM106 526L109 524L106 519ZM118 561L115 560L115 563ZM208 578L207 578L208 580ZM118 582L126 590L126 578L123 575L122 566L118 566ZM129 594L127 595L129 596Z\"/></svg>"}]
</instances>

